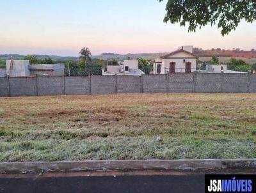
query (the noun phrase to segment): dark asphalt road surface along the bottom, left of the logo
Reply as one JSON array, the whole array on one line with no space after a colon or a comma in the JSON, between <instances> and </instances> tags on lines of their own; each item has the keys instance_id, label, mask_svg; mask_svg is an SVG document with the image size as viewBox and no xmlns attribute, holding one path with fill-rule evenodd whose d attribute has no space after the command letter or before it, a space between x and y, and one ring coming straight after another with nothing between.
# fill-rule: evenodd
<instances>
[{"instance_id":1,"label":"dark asphalt road surface along the bottom, left of the logo","mask_svg":"<svg viewBox=\"0 0 256 193\"><path fill-rule=\"evenodd\" d=\"M1 178L0 192L204 192L204 174Z\"/></svg>"}]
</instances>

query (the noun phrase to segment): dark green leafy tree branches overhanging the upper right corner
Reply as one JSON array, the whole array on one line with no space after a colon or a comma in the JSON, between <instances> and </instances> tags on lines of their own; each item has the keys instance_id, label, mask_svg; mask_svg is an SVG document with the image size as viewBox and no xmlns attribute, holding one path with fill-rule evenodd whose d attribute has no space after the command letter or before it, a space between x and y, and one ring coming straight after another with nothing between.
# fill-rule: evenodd
<instances>
[{"instance_id":1,"label":"dark green leafy tree branches overhanging the upper right corner","mask_svg":"<svg viewBox=\"0 0 256 193\"><path fill-rule=\"evenodd\" d=\"M188 23L188 31L218 22L218 28L221 28L221 35L224 36L235 30L243 19L251 23L256 20L255 0L168 0L164 22L180 23L180 26Z\"/></svg>"}]
</instances>

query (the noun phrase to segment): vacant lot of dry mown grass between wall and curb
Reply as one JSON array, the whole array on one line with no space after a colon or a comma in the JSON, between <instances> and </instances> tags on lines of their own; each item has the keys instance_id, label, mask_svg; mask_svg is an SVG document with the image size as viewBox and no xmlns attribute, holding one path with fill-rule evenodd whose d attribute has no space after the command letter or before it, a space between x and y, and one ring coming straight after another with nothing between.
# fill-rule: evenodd
<instances>
[{"instance_id":1,"label":"vacant lot of dry mown grass between wall and curb","mask_svg":"<svg viewBox=\"0 0 256 193\"><path fill-rule=\"evenodd\" d=\"M0 98L1 162L152 158L256 158L256 95Z\"/></svg>"}]
</instances>

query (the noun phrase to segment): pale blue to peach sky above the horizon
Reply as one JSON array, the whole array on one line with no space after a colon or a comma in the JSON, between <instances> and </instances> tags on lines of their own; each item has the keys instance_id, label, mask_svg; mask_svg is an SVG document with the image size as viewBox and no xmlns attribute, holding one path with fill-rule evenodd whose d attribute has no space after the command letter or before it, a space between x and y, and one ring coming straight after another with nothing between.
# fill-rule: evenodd
<instances>
[{"instance_id":1,"label":"pale blue to peach sky above the horizon","mask_svg":"<svg viewBox=\"0 0 256 193\"><path fill-rule=\"evenodd\" d=\"M221 36L216 26L188 33L163 22L166 1L0 0L0 54L77 56L81 47L102 52L170 52L180 45L203 49L256 49L256 22L241 22Z\"/></svg>"}]
</instances>

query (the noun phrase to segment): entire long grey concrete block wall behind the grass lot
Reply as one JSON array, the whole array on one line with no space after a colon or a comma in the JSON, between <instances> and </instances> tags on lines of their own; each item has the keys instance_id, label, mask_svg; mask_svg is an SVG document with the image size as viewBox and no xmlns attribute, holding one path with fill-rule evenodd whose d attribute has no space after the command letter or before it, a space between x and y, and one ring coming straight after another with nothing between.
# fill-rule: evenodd
<instances>
[{"instance_id":1,"label":"entire long grey concrete block wall behind the grass lot","mask_svg":"<svg viewBox=\"0 0 256 193\"><path fill-rule=\"evenodd\" d=\"M89 77L0 77L0 96L107 93L256 93L255 74L175 73Z\"/></svg>"}]
</instances>

